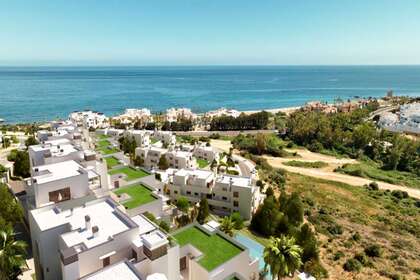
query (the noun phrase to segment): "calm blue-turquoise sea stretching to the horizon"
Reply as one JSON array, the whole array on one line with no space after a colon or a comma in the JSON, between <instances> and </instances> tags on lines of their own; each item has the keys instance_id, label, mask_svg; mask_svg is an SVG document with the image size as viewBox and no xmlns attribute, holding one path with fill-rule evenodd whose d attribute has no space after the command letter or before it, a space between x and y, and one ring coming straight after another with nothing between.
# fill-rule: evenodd
<instances>
[{"instance_id":1,"label":"calm blue-turquoise sea stretching to the horizon","mask_svg":"<svg viewBox=\"0 0 420 280\"><path fill-rule=\"evenodd\" d=\"M274 109L388 90L420 96L420 66L0 67L0 118L22 123L143 107Z\"/></svg>"}]
</instances>

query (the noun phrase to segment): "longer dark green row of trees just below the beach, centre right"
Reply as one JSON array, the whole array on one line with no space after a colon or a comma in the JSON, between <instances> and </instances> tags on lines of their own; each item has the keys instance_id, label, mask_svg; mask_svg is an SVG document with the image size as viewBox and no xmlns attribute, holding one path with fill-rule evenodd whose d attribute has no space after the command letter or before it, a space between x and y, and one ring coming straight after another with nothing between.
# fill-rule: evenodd
<instances>
[{"instance_id":1,"label":"longer dark green row of trees just below the beach, centre right","mask_svg":"<svg viewBox=\"0 0 420 280\"><path fill-rule=\"evenodd\" d=\"M265 129L268 125L269 113L262 111L254 114L241 114L239 117L220 116L212 119L210 130L252 130Z\"/></svg>"}]
</instances>

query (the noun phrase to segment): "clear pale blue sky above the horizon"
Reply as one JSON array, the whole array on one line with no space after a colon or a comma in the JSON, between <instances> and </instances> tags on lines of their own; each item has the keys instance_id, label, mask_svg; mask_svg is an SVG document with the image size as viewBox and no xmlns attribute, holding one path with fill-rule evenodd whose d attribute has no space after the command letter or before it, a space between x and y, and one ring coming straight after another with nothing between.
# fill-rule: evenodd
<instances>
[{"instance_id":1,"label":"clear pale blue sky above the horizon","mask_svg":"<svg viewBox=\"0 0 420 280\"><path fill-rule=\"evenodd\" d=\"M0 65L420 64L419 0L0 0Z\"/></svg>"}]
</instances>

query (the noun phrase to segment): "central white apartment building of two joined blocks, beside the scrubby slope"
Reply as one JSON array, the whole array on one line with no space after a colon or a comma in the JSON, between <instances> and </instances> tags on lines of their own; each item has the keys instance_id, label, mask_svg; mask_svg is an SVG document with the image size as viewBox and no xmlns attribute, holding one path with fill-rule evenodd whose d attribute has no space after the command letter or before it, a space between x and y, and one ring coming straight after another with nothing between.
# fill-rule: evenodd
<instances>
[{"instance_id":1,"label":"central white apartment building of two joined blocks, beside the scrubby slope","mask_svg":"<svg viewBox=\"0 0 420 280\"><path fill-rule=\"evenodd\" d=\"M259 187L251 178L218 175L200 169L181 169L168 184L169 196L173 200L184 196L191 203L207 198L210 209L221 215L239 212L250 219L263 201Z\"/></svg>"}]
</instances>

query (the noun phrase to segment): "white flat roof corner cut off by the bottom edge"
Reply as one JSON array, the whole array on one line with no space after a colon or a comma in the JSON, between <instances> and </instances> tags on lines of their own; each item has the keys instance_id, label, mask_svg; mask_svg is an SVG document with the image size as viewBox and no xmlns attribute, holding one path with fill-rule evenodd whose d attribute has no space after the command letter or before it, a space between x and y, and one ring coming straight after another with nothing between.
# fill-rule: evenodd
<instances>
[{"instance_id":1,"label":"white flat roof corner cut off by the bottom edge","mask_svg":"<svg viewBox=\"0 0 420 280\"><path fill-rule=\"evenodd\" d=\"M93 274L81 278L82 280L141 280L134 268L127 262L119 262L107 266Z\"/></svg>"}]
</instances>

